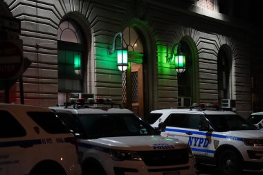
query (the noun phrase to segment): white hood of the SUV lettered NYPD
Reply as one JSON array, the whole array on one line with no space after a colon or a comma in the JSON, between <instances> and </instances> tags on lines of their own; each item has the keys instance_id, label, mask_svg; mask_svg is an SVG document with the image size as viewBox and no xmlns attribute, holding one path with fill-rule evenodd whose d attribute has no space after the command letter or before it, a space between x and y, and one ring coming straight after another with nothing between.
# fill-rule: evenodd
<instances>
[{"instance_id":1,"label":"white hood of the SUV lettered NYPD","mask_svg":"<svg viewBox=\"0 0 263 175\"><path fill-rule=\"evenodd\" d=\"M234 136L237 138L263 139L263 130L228 131L226 132L226 136Z\"/></svg>"}]
</instances>

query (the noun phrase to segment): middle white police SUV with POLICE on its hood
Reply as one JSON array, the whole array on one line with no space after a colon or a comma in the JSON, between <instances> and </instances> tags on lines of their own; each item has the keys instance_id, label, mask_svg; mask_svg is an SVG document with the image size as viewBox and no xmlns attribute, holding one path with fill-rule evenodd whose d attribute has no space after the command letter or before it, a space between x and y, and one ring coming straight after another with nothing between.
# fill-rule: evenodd
<instances>
[{"instance_id":1,"label":"middle white police SUV with POLICE on its hood","mask_svg":"<svg viewBox=\"0 0 263 175\"><path fill-rule=\"evenodd\" d=\"M50 108L78 138L84 175L196 174L188 144L156 135L127 109L88 103Z\"/></svg>"}]
</instances>

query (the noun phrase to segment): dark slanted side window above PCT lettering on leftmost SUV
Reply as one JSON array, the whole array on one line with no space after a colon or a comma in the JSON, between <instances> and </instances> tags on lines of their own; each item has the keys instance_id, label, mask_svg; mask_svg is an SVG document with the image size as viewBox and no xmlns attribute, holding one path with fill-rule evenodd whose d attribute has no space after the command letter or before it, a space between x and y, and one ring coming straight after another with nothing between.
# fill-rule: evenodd
<instances>
[{"instance_id":1,"label":"dark slanted side window above PCT lettering on leftmost SUV","mask_svg":"<svg viewBox=\"0 0 263 175\"><path fill-rule=\"evenodd\" d=\"M28 116L34 120L37 125L42 127L48 133L70 133L69 129L60 121L53 112L27 112Z\"/></svg>"}]
</instances>

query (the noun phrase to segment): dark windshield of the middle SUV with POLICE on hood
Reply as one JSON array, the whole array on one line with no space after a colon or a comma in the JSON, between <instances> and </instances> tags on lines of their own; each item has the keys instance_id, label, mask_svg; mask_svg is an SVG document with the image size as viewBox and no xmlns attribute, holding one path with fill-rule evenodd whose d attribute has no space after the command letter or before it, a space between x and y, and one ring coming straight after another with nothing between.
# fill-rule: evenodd
<instances>
[{"instance_id":1,"label":"dark windshield of the middle SUV with POLICE on hood","mask_svg":"<svg viewBox=\"0 0 263 175\"><path fill-rule=\"evenodd\" d=\"M152 136L154 129L131 113L80 114L87 138Z\"/></svg>"}]
</instances>

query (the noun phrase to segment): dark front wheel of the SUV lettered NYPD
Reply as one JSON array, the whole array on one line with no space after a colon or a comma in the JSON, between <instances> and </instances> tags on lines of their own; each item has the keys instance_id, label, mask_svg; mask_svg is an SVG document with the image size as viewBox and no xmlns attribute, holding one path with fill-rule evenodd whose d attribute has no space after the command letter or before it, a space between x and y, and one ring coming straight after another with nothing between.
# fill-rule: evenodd
<instances>
[{"instance_id":1,"label":"dark front wheel of the SUV lettered NYPD","mask_svg":"<svg viewBox=\"0 0 263 175\"><path fill-rule=\"evenodd\" d=\"M242 158L236 151L226 149L219 154L218 160L219 171L222 174L233 175L242 172Z\"/></svg>"}]
</instances>

